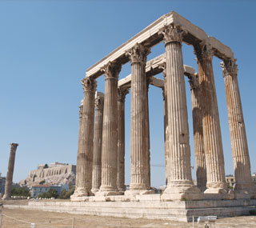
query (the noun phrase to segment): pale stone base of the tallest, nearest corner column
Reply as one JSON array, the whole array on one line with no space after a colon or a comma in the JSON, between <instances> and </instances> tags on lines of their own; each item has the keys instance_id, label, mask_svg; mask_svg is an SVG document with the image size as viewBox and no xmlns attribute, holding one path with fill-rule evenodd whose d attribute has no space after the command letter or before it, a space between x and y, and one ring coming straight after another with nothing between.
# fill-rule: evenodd
<instances>
[{"instance_id":1,"label":"pale stone base of the tallest, nearest corner column","mask_svg":"<svg viewBox=\"0 0 256 228\"><path fill-rule=\"evenodd\" d=\"M162 201L190 201L201 200L203 194L197 186L190 183L170 183L161 196Z\"/></svg>"}]
</instances>

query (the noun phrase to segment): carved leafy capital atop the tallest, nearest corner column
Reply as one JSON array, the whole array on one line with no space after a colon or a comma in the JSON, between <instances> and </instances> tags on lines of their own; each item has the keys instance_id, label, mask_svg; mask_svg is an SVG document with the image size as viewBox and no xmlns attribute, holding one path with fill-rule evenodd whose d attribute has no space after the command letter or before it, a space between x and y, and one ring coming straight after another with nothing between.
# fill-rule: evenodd
<instances>
[{"instance_id":1,"label":"carved leafy capital atop the tallest, nearest corner column","mask_svg":"<svg viewBox=\"0 0 256 228\"><path fill-rule=\"evenodd\" d=\"M159 30L158 34L163 35L165 44L169 42L182 42L183 34L186 34L186 31L182 30L179 26L174 26L170 24L169 26L164 26Z\"/></svg>"}]
</instances>

